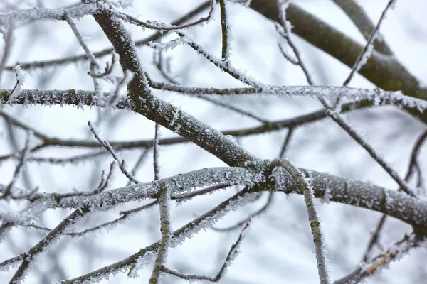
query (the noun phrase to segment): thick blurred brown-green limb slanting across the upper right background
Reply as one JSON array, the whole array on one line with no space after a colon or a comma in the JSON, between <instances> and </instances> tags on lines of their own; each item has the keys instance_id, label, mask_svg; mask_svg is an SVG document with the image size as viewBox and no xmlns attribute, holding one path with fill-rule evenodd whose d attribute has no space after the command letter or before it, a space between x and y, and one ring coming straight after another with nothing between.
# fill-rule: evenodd
<instances>
[{"instance_id":1,"label":"thick blurred brown-green limb slanting across the upper right background","mask_svg":"<svg viewBox=\"0 0 427 284\"><path fill-rule=\"evenodd\" d=\"M276 1L252 0L250 8L271 21L280 22ZM289 5L287 18L292 23L292 31L296 35L349 67L352 67L363 49L362 45L352 38L337 31L337 29L295 4ZM401 90L410 97L427 99L427 89L422 87L420 81L411 75L396 58L384 57L384 55L374 51L359 74L381 89ZM412 109L405 109L424 123L427 122L426 114L417 114Z\"/></svg>"}]
</instances>

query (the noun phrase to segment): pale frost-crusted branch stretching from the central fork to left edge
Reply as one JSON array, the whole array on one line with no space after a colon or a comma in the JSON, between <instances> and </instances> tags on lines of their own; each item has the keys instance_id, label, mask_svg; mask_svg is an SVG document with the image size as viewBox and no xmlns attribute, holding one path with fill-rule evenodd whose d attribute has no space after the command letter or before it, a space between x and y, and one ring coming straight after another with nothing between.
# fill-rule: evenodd
<instances>
[{"instance_id":1,"label":"pale frost-crusted branch stretching from the central fork to left edge","mask_svg":"<svg viewBox=\"0 0 427 284\"><path fill-rule=\"evenodd\" d=\"M3 224L26 225L31 224L47 209L89 207L105 210L127 202L156 198L159 182L171 190L172 195L177 195L191 192L197 187L209 185L253 186L263 181L263 173L245 168L205 168L154 182L103 191L100 195L88 195L87 192L80 192L80 194L73 192L72 195L68 193L38 193L33 195L31 198L33 202L26 209L16 213L0 212L0 221ZM4 191L6 187L6 185L0 185L0 191Z\"/></svg>"}]
</instances>

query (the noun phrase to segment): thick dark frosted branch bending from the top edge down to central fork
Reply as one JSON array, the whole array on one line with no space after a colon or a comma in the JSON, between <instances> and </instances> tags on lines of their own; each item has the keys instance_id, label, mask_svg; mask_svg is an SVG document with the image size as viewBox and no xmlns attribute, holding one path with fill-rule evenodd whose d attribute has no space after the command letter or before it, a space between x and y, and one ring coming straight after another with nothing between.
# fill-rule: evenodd
<instances>
[{"instance_id":1,"label":"thick dark frosted branch bending from the top edge down to central fork","mask_svg":"<svg viewBox=\"0 0 427 284\"><path fill-rule=\"evenodd\" d=\"M139 62L135 44L125 27L108 11L97 13L94 17L115 47L115 51L120 55L122 70L130 70L135 75L127 88L133 111L178 133L209 153L216 155L228 165L243 166L257 160L251 153L223 136L216 129L201 123L178 107L154 97Z\"/></svg>"}]
</instances>

